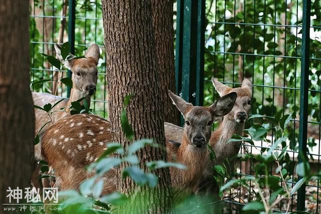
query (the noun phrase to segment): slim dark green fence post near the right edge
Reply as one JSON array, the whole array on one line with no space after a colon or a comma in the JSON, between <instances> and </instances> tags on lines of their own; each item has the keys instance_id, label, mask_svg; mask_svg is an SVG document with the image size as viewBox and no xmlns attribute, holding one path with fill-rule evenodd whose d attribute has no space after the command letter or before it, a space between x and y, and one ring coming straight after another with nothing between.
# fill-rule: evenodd
<instances>
[{"instance_id":1,"label":"slim dark green fence post near the right edge","mask_svg":"<svg viewBox=\"0 0 321 214\"><path fill-rule=\"evenodd\" d=\"M302 47L301 47L301 81L300 81L300 123L299 123L299 152L306 157L307 140L307 108L308 108L308 81L309 81L309 57L310 57L310 13L311 1L303 1L302 17ZM298 158L302 162L301 155ZM305 184L297 191L298 211L305 210Z\"/></svg>"}]
</instances>

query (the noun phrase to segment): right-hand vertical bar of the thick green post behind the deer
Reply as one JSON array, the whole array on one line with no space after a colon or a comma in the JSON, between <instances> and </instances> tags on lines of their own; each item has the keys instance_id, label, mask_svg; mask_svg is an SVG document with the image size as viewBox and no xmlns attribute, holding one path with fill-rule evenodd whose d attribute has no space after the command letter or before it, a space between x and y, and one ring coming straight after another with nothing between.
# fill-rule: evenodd
<instances>
[{"instance_id":1,"label":"right-hand vertical bar of the thick green post behind the deer","mask_svg":"<svg viewBox=\"0 0 321 214\"><path fill-rule=\"evenodd\" d=\"M197 58L196 58L196 105L203 106L204 100L204 43L205 1L198 1L197 15Z\"/></svg>"}]
</instances>

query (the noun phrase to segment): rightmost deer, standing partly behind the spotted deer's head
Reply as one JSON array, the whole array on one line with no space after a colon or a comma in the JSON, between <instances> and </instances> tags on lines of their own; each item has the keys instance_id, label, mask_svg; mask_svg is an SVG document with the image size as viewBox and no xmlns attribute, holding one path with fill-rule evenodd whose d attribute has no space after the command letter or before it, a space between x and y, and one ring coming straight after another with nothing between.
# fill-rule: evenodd
<instances>
[{"instance_id":1,"label":"rightmost deer, standing partly behind the spotted deer's head","mask_svg":"<svg viewBox=\"0 0 321 214\"><path fill-rule=\"evenodd\" d=\"M248 79L242 81L242 85L239 88L230 88L220 83L215 78L212 78L212 83L218 94L223 97L228 93L235 92L237 99L235 101L233 109L223 117L223 121L219 127L212 133L209 140L209 145L216 154L216 160L212 161L208 158L207 166L202 175L202 179L197 188L194 189L194 193L197 195L210 195L216 196L218 194L218 187L216 186L213 178L212 165L221 164L225 158L231 160L231 170L234 170L235 161L232 160L239 152L241 141L228 143L233 134L241 135L245 122L248 118L251 108L252 98L252 83ZM171 123L164 123L165 136L168 140L174 142L180 142L183 134L183 128Z\"/></svg>"}]
</instances>

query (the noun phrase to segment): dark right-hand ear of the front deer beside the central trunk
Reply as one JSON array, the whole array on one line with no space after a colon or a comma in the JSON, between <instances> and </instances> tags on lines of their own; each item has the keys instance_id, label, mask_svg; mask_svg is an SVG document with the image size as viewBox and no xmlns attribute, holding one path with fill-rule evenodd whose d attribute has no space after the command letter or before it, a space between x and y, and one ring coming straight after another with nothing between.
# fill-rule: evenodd
<instances>
[{"instance_id":1,"label":"dark right-hand ear of the front deer beside the central trunk","mask_svg":"<svg viewBox=\"0 0 321 214\"><path fill-rule=\"evenodd\" d=\"M232 108L236 100L237 94L235 92L224 95L210 106L211 112L215 119L224 117Z\"/></svg>"}]
</instances>

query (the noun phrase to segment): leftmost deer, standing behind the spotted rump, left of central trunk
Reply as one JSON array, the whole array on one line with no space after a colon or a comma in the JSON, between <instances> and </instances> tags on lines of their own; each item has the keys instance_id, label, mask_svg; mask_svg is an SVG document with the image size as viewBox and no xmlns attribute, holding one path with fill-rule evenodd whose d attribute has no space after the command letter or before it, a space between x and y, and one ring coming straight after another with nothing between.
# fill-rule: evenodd
<instances>
[{"instance_id":1,"label":"leftmost deer, standing behind the spotted rump, left of central trunk","mask_svg":"<svg viewBox=\"0 0 321 214\"><path fill-rule=\"evenodd\" d=\"M48 129L52 122L63 118L67 115L70 115L70 106L71 103L77 101L81 98L85 98L88 105L90 105L90 97L96 91L96 84L97 84L97 64L99 61L100 51L99 47L96 44L91 45L87 52L85 53L85 58L75 58L72 54L71 59L65 61L61 55L61 47L58 44L54 45L56 50L56 56L60 60L61 63L64 64L64 67L71 70L72 72L72 83L73 87L70 91L70 98L64 99L62 102L57 104L53 111L52 118L49 117L48 113L41 110L35 109L35 118L36 118L36 134L40 131L43 133L46 129ZM63 99L62 97L55 96L48 93L38 93L33 92L33 101L34 104L37 106L44 106L47 103L54 103L58 102L59 100ZM64 110L55 110L55 109L62 109ZM40 133L41 134L41 133ZM36 161L42 160L41 156L41 145L40 143L35 145L35 159ZM37 185L37 179L39 177L39 166L38 163L35 165L35 171L33 174L33 183ZM38 185L37 185L38 187Z\"/></svg>"}]
</instances>

